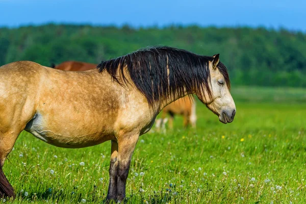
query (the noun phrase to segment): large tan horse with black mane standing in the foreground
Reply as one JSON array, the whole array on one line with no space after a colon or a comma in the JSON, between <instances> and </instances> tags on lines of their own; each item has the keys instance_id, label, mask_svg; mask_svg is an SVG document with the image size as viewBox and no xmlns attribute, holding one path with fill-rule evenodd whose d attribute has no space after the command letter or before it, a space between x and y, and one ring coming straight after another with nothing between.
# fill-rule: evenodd
<instances>
[{"instance_id":1,"label":"large tan horse with black mane standing in the foreground","mask_svg":"<svg viewBox=\"0 0 306 204\"><path fill-rule=\"evenodd\" d=\"M176 99L195 94L219 120L236 107L227 68L213 57L173 47L147 47L88 71L62 71L35 62L0 67L0 196L15 198L3 165L21 131L64 148L111 140L106 200L125 198L139 136Z\"/></svg>"}]
</instances>

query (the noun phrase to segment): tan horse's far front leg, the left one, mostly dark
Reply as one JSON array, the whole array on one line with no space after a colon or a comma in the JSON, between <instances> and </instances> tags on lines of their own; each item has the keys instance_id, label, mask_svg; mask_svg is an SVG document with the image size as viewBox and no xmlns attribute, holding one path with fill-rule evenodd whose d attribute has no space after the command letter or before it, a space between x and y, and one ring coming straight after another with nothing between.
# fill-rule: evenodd
<instances>
[{"instance_id":1,"label":"tan horse's far front leg, the left one, mostly dark","mask_svg":"<svg viewBox=\"0 0 306 204\"><path fill-rule=\"evenodd\" d=\"M109 189L107 192L106 199L116 200L117 198L117 181L118 181L118 143L112 140L112 149L111 149L111 164L110 164L110 182L109 182Z\"/></svg>"}]
</instances>

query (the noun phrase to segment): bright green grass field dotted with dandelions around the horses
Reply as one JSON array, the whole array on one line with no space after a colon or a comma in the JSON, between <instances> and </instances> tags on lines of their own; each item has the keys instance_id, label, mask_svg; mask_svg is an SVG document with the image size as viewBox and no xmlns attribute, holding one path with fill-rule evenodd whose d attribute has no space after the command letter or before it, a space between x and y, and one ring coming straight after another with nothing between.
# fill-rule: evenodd
<instances>
[{"instance_id":1,"label":"bright green grass field dotted with dandelions around the horses","mask_svg":"<svg viewBox=\"0 0 306 204\"><path fill-rule=\"evenodd\" d=\"M197 103L197 129L140 137L128 203L306 203L306 89L233 89L233 123ZM69 124L67 124L69 125ZM110 142L64 149L22 133L4 172L14 203L101 203ZM1 201L0 201L1 202Z\"/></svg>"}]
</instances>

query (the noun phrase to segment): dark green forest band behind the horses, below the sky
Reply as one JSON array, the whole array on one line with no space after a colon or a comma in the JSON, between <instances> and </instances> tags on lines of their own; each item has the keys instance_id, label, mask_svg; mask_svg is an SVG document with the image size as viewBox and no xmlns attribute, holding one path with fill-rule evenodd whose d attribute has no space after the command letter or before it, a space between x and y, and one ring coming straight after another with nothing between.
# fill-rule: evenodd
<instances>
[{"instance_id":1,"label":"dark green forest band behind the horses, below the sky","mask_svg":"<svg viewBox=\"0 0 306 204\"><path fill-rule=\"evenodd\" d=\"M235 85L306 87L306 34L284 29L70 24L0 28L0 65L19 60L45 66L68 60L99 63L154 45L199 55L220 53Z\"/></svg>"}]
</instances>

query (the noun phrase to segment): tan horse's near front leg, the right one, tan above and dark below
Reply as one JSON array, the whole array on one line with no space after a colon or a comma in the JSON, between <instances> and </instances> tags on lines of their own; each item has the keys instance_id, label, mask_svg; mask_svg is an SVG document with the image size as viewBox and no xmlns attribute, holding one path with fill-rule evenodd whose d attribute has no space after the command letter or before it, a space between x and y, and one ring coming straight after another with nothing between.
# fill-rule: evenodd
<instances>
[{"instance_id":1,"label":"tan horse's near front leg, the right one, tan above and dark below","mask_svg":"<svg viewBox=\"0 0 306 204\"><path fill-rule=\"evenodd\" d=\"M118 139L118 186L117 200L125 198L126 179L129 175L132 155L139 138L139 134L124 135Z\"/></svg>"}]
</instances>

